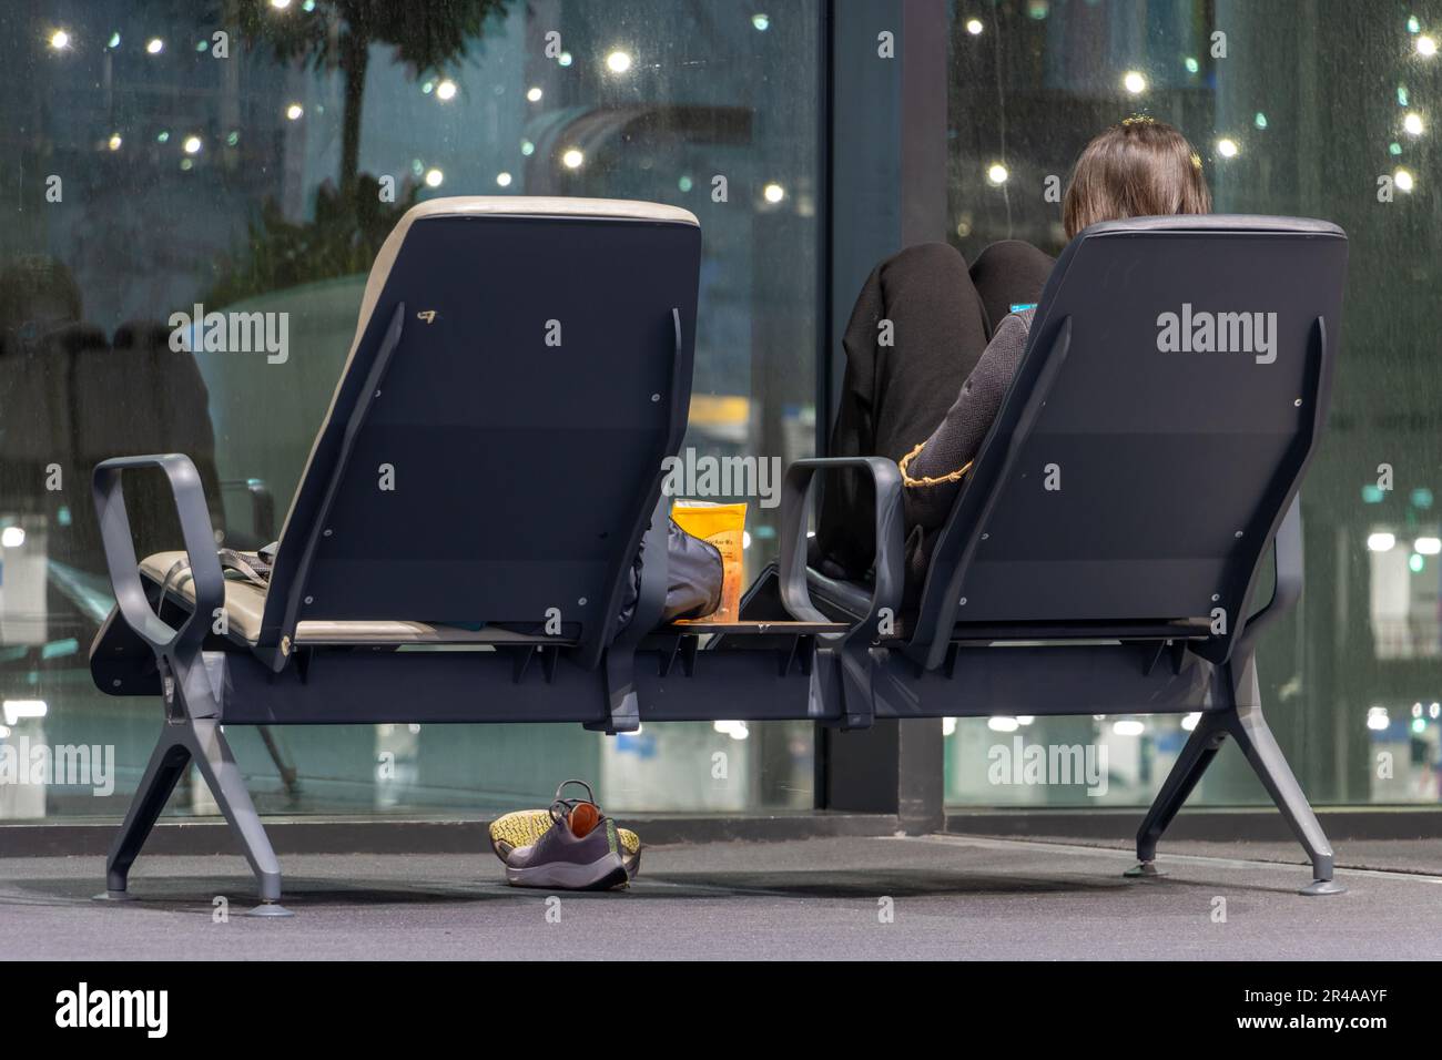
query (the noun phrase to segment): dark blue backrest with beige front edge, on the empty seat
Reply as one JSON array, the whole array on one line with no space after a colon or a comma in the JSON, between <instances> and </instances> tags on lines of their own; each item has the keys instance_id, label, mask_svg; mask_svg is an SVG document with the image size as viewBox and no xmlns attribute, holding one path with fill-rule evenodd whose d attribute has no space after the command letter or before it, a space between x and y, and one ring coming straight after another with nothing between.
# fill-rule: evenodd
<instances>
[{"instance_id":1,"label":"dark blue backrest with beige front edge, on the empty seat","mask_svg":"<svg viewBox=\"0 0 1442 1060\"><path fill-rule=\"evenodd\" d=\"M691 391L701 231L600 199L435 199L366 283L281 534L260 649L298 620L609 635Z\"/></svg>"}]
</instances>

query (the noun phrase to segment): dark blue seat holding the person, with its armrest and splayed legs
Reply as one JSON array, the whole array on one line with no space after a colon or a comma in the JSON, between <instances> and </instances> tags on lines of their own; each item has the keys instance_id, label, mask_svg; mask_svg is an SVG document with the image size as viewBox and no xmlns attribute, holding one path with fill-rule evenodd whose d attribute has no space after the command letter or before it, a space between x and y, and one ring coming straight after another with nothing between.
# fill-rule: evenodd
<instances>
[{"instance_id":1,"label":"dark blue seat holding the person, with its armrest and splayed legs","mask_svg":"<svg viewBox=\"0 0 1442 1060\"><path fill-rule=\"evenodd\" d=\"M858 620L838 649L849 724L872 715L1201 712L1138 835L1156 839L1237 740L1337 890L1332 854L1262 718L1256 643L1298 599L1298 490L1327 418L1347 237L1322 221L1136 218L1063 251L1027 352L900 616L897 476L878 476L867 586L805 568L810 477L783 493L782 594ZM1255 596L1269 580L1270 601ZM822 610L818 599L826 610Z\"/></svg>"}]
</instances>

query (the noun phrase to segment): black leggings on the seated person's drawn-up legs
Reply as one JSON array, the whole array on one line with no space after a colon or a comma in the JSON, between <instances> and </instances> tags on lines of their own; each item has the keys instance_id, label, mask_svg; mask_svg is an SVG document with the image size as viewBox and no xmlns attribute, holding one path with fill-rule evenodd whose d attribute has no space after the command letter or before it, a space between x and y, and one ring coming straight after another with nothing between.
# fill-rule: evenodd
<instances>
[{"instance_id":1,"label":"black leggings on the seated person's drawn-up legs","mask_svg":"<svg viewBox=\"0 0 1442 1060\"><path fill-rule=\"evenodd\" d=\"M949 244L910 247L871 273L842 346L846 378L828 456L900 460L926 441L1011 306L1034 303L1054 260L1007 239L970 265ZM881 322L891 343L883 345ZM828 476L812 552L832 575L862 578L875 552L874 490L857 472Z\"/></svg>"}]
</instances>

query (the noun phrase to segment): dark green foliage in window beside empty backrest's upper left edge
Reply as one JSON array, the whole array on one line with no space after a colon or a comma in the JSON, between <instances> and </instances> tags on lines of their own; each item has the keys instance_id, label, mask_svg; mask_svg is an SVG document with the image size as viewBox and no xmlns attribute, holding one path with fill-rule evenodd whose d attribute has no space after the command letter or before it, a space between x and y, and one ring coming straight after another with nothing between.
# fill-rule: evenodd
<instances>
[{"instance_id":1,"label":"dark green foliage in window beside empty backrest's upper left edge","mask_svg":"<svg viewBox=\"0 0 1442 1060\"><path fill-rule=\"evenodd\" d=\"M366 273L385 237L415 203L420 187L398 189L395 202L381 202L381 183L362 173L349 192L329 180L316 189L316 219L287 221L280 205L267 199L248 226L247 239L202 301L228 306L314 280Z\"/></svg>"}]
</instances>

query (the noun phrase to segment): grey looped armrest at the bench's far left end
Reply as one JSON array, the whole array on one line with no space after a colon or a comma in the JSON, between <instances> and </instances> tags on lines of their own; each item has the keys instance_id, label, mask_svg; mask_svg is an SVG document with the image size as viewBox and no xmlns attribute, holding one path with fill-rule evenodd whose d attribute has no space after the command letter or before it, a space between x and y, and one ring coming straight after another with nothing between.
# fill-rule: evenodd
<instances>
[{"instance_id":1,"label":"grey looped armrest at the bench's far left end","mask_svg":"<svg viewBox=\"0 0 1442 1060\"><path fill-rule=\"evenodd\" d=\"M170 493L180 516L180 532L189 557L195 584L195 610L173 629L162 622L140 584L140 565L130 536L121 473L140 467L157 467L170 482ZM180 453L157 456L127 456L95 464L92 479L95 512L99 518L101 541L105 545L105 565L115 603L125 623L157 652L174 653L199 650L211 626L211 616L225 606L225 577L215 554L211 511L205 503L205 486L190 457Z\"/></svg>"}]
</instances>

